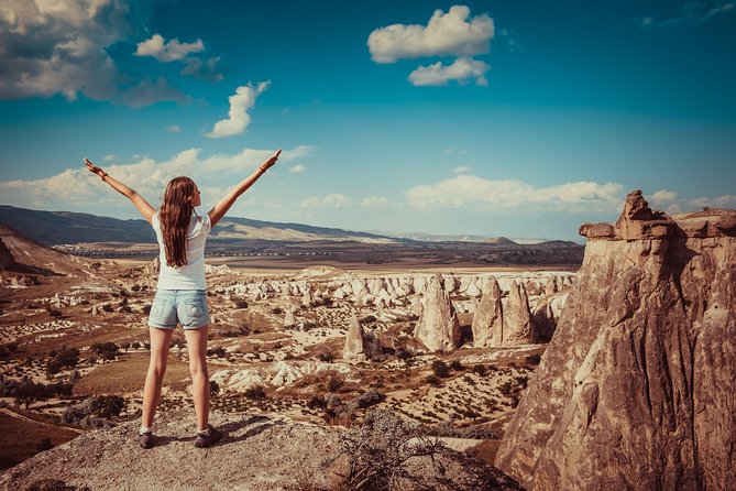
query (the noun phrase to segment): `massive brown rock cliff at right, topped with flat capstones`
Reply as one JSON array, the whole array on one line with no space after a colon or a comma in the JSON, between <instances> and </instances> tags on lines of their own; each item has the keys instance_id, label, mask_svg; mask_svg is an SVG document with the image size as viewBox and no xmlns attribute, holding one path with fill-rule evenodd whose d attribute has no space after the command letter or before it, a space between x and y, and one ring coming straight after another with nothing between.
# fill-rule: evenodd
<instances>
[{"instance_id":1,"label":"massive brown rock cliff at right, topped with flat capstones","mask_svg":"<svg viewBox=\"0 0 736 491\"><path fill-rule=\"evenodd\" d=\"M530 490L736 482L736 210L669 217L640 192L585 259L496 466Z\"/></svg>"}]
</instances>

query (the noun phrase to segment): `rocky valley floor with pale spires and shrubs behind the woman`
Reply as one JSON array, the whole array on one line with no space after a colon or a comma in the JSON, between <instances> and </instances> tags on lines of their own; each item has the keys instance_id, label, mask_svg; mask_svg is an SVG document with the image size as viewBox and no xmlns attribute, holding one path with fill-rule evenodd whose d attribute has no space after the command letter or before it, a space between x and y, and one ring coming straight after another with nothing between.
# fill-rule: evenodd
<instances>
[{"instance_id":1,"label":"rocky valley floor with pale spires and shrubs behind the woman","mask_svg":"<svg viewBox=\"0 0 736 491\"><path fill-rule=\"evenodd\" d=\"M0 272L0 425L13 437L0 445L0 463L10 467L69 439L83 441L80 433L138 418L158 264L78 258L4 230L12 261ZM32 248L23 259L29 273L8 268L20 258L13 251ZM41 263L54 273L33 269ZM207 276L212 406L223 421L270 414L332 428L389 408L485 461L493 460L546 341L532 340L528 329L498 345L475 342L471 324L486 285L497 286L504 329L538 318L553 331L575 277L330 266L251 274L222 263L208 264ZM527 302L515 303L512 288ZM177 331L162 418L190 411L187 359Z\"/></svg>"}]
</instances>

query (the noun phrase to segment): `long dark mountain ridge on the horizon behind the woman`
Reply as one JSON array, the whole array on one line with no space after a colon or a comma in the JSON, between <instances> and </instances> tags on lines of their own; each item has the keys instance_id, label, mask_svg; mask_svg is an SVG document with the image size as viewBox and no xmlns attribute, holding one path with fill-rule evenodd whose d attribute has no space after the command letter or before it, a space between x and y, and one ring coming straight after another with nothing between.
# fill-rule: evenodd
<instances>
[{"instance_id":1,"label":"long dark mountain ridge on the horizon behind the woman","mask_svg":"<svg viewBox=\"0 0 736 491\"><path fill-rule=\"evenodd\" d=\"M156 243L156 236L143 219L121 220L70 211L40 211L0 206L0 222L47 246L90 242ZM279 223L224 217L210 240L314 240L394 243L395 238L303 223Z\"/></svg>"}]
</instances>

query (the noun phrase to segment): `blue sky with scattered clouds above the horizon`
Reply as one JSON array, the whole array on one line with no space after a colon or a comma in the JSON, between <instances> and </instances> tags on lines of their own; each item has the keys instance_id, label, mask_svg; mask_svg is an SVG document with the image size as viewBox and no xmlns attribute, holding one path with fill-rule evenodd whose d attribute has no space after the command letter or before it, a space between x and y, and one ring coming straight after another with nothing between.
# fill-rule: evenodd
<instances>
[{"instance_id":1,"label":"blue sky with scattered clouds above the horizon","mask_svg":"<svg viewBox=\"0 0 736 491\"><path fill-rule=\"evenodd\" d=\"M576 239L641 188L736 207L733 1L13 1L0 203L208 208L352 230Z\"/></svg>"}]
</instances>

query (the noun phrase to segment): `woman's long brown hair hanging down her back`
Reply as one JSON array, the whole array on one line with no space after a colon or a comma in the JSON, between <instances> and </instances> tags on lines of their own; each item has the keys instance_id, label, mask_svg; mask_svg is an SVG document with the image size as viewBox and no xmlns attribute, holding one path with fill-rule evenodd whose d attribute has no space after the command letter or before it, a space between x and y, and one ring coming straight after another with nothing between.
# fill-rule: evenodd
<instances>
[{"instance_id":1,"label":"woman's long brown hair hanging down her back","mask_svg":"<svg viewBox=\"0 0 736 491\"><path fill-rule=\"evenodd\" d=\"M164 203L158 209L161 231L164 236L166 264L183 266L187 263L187 233L197 185L189 177L174 177L166 185Z\"/></svg>"}]
</instances>

